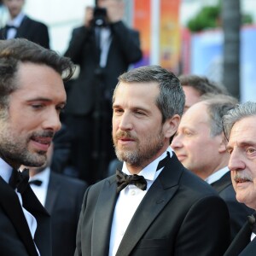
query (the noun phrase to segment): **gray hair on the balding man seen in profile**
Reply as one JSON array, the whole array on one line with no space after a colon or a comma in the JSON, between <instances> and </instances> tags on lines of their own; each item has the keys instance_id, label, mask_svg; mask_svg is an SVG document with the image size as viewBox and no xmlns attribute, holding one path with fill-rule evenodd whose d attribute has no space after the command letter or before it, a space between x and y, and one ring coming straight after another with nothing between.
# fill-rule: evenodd
<instances>
[{"instance_id":1,"label":"gray hair on the balding man seen in profile","mask_svg":"<svg viewBox=\"0 0 256 256\"><path fill-rule=\"evenodd\" d=\"M235 108L237 99L232 96L215 95L211 99L203 101L207 105L207 113L210 119L211 136L215 137L223 132L222 118Z\"/></svg>"}]
</instances>

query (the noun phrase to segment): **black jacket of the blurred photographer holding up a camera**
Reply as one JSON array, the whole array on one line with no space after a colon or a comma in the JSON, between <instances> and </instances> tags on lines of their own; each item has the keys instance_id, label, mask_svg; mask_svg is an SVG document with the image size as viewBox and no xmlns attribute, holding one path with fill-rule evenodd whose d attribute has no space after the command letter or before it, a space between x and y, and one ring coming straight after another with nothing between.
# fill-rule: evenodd
<instances>
[{"instance_id":1,"label":"black jacket of the blurred photographer holding up a camera","mask_svg":"<svg viewBox=\"0 0 256 256\"><path fill-rule=\"evenodd\" d=\"M73 30L73 35L65 53L80 67L79 78L74 80L67 90L66 113L85 115L90 113L96 102L97 92L108 99L109 112L112 110L113 88L121 73L127 71L129 65L142 58L139 33L125 26L121 21L111 25L112 41L108 51L106 67L101 76L96 76L99 55L96 48L94 29L80 26ZM101 78L101 85L99 79Z\"/></svg>"}]
</instances>

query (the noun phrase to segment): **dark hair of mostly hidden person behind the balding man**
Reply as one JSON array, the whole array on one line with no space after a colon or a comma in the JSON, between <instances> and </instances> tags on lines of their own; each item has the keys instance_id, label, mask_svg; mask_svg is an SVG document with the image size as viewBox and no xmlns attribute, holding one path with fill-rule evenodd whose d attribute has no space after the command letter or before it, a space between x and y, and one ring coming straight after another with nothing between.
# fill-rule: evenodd
<instances>
[{"instance_id":1,"label":"dark hair of mostly hidden person behind the balding man","mask_svg":"<svg viewBox=\"0 0 256 256\"><path fill-rule=\"evenodd\" d=\"M211 94L228 94L228 91L224 88L224 86L218 85L213 81L210 81L206 77L201 77L197 75L180 75L178 77L182 86L191 86L195 90L199 92L202 96L207 93Z\"/></svg>"}]
</instances>

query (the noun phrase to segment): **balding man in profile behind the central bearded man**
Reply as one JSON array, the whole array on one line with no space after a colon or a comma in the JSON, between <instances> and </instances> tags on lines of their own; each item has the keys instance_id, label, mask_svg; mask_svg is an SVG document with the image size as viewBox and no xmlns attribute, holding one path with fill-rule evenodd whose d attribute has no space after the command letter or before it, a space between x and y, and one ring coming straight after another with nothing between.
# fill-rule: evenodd
<instances>
[{"instance_id":1,"label":"balding man in profile behind the central bearded man","mask_svg":"<svg viewBox=\"0 0 256 256\"><path fill-rule=\"evenodd\" d=\"M235 98L224 95L195 103L184 113L171 144L183 166L209 183L226 202L232 239L241 230L247 215L253 213L236 201L228 168L230 154L225 148L222 117L236 103Z\"/></svg>"}]
</instances>

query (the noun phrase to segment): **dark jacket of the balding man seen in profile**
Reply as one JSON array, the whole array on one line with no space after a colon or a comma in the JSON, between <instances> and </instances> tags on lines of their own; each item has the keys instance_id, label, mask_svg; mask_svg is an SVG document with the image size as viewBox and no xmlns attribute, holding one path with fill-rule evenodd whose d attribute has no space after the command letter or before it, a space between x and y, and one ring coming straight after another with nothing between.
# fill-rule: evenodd
<instances>
[{"instance_id":1,"label":"dark jacket of the balding man seen in profile","mask_svg":"<svg viewBox=\"0 0 256 256\"><path fill-rule=\"evenodd\" d=\"M236 201L236 192L233 188L230 172L227 172L217 182L212 183L218 195L226 202L230 212L231 239L241 230L247 221L247 216L253 214L254 210Z\"/></svg>"}]
</instances>

